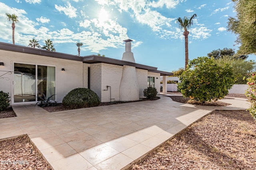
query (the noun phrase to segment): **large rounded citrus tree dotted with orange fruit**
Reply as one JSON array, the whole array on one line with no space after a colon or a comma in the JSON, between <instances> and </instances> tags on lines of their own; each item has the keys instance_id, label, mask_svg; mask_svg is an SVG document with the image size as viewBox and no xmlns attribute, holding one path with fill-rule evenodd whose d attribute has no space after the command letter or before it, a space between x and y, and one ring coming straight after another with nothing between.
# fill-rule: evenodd
<instances>
[{"instance_id":1,"label":"large rounded citrus tree dotted with orange fruit","mask_svg":"<svg viewBox=\"0 0 256 170\"><path fill-rule=\"evenodd\" d=\"M228 94L235 80L230 64L217 64L214 58L198 57L189 61L180 76L178 91L192 100L210 102Z\"/></svg>"}]
</instances>

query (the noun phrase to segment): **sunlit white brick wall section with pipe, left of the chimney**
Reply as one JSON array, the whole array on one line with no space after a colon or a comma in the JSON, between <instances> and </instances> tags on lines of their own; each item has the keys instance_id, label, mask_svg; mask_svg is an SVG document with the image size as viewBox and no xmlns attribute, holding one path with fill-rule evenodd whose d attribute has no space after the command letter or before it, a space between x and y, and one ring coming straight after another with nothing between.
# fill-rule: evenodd
<instances>
[{"instance_id":1,"label":"sunlit white brick wall section with pipe, left of the chimney","mask_svg":"<svg viewBox=\"0 0 256 170\"><path fill-rule=\"evenodd\" d=\"M101 68L101 102L110 102L110 88L106 86L111 86L111 102L119 101L119 86L122 78L122 66L117 66L113 64L102 63Z\"/></svg>"}]
</instances>

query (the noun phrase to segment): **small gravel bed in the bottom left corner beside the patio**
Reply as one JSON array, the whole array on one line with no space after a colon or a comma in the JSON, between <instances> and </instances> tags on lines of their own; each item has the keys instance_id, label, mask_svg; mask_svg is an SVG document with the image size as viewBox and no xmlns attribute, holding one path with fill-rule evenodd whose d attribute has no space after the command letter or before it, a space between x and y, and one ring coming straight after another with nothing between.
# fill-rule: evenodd
<instances>
[{"instance_id":1,"label":"small gravel bed in the bottom left corner beside the patio","mask_svg":"<svg viewBox=\"0 0 256 170\"><path fill-rule=\"evenodd\" d=\"M51 170L27 135L0 141L0 170Z\"/></svg>"}]
</instances>

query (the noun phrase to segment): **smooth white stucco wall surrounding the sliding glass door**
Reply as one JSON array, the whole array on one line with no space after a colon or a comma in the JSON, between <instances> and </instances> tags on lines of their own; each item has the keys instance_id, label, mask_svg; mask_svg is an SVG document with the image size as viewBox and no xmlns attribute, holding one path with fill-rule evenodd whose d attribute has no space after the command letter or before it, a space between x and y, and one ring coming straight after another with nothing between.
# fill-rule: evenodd
<instances>
[{"instance_id":1,"label":"smooth white stucco wall surrounding the sliding glass door","mask_svg":"<svg viewBox=\"0 0 256 170\"><path fill-rule=\"evenodd\" d=\"M68 92L74 88L82 87L82 70L83 63L80 61L72 61L66 59L57 59L40 55L32 55L27 53L18 53L13 51L0 50L0 61L4 62L4 66L0 66L0 70L13 71L13 63L50 65L56 68L56 101L62 102L62 99ZM65 71L61 69L65 68ZM0 75L5 72L0 72ZM10 80L0 79L0 90L13 95L12 85L13 74L6 74L5 77ZM12 103L11 103L12 104ZM22 104L22 103L20 103Z\"/></svg>"}]
</instances>

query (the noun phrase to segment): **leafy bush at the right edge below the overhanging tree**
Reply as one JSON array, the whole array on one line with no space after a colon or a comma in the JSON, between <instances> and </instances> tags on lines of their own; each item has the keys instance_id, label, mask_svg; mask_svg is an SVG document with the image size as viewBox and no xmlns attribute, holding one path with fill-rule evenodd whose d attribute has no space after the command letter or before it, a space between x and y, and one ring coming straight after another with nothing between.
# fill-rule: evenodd
<instances>
[{"instance_id":1,"label":"leafy bush at the right edge below the overhanging tree","mask_svg":"<svg viewBox=\"0 0 256 170\"><path fill-rule=\"evenodd\" d=\"M249 102L251 102L251 106L247 110L250 111L250 114L256 121L256 72L251 73L246 80L249 87L245 94Z\"/></svg>"}]
</instances>

